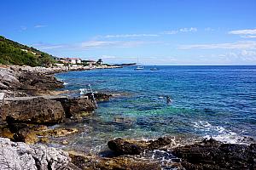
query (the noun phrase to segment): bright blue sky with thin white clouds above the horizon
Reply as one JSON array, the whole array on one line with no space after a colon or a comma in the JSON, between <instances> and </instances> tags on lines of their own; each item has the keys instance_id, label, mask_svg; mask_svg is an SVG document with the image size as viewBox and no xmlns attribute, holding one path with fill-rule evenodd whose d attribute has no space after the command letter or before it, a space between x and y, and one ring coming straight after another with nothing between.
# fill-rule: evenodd
<instances>
[{"instance_id":1,"label":"bright blue sky with thin white clouds above the horizon","mask_svg":"<svg viewBox=\"0 0 256 170\"><path fill-rule=\"evenodd\" d=\"M256 65L256 0L5 0L0 35L111 64Z\"/></svg>"}]
</instances>

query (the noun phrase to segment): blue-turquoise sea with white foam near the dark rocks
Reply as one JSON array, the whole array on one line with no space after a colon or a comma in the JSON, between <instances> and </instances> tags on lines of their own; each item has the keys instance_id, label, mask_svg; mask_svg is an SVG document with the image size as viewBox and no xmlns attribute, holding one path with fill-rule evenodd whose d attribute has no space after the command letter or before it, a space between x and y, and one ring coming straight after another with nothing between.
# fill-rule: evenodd
<instances>
[{"instance_id":1,"label":"blue-turquoise sea with white foam near the dark rocks","mask_svg":"<svg viewBox=\"0 0 256 170\"><path fill-rule=\"evenodd\" d=\"M245 136L255 139L256 66L156 66L159 70L150 71L152 67L57 74L77 94L89 83L97 92L119 94L76 124L82 133L68 139L70 144L100 150L115 137L212 137L228 143L247 143ZM166 96L172 103L166 103Z\"/></svg>"}]
</instances>

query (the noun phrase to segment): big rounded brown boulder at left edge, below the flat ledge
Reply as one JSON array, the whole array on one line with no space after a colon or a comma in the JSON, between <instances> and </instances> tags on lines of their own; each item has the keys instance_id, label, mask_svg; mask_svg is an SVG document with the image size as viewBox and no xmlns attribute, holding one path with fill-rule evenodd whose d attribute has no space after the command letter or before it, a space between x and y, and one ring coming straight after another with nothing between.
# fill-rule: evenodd
<instances>
[{"instance_id":1,"label":"big rounded brown boulder at left edge, below the flat ledge","mask_svg":"<svg viewBox=\"0 0 256 170\"><path fill-rule=\"evenodd\" d=\"M1 116L10 124L14 122L55 124L65 118L65 112L59 101L36 98L4 104Z\"/></svg>"}]
</instances>

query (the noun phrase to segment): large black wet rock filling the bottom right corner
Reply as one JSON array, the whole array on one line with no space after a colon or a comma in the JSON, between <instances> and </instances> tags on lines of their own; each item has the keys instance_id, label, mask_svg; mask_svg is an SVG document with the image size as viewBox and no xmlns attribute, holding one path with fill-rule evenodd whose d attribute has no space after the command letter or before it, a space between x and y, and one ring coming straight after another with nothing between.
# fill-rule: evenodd
<instances>
[{"instance_id":1,"label":"large black wet rock filling the bottom right corner","mask_svg":"<svg viewBox=\"0 0 256 170\"><path fill-rule=\"evenodd\" d=\"M256 169L256 144L223 144L214 139L177 147L186 169Z\"/></svg>"}]
</instances>

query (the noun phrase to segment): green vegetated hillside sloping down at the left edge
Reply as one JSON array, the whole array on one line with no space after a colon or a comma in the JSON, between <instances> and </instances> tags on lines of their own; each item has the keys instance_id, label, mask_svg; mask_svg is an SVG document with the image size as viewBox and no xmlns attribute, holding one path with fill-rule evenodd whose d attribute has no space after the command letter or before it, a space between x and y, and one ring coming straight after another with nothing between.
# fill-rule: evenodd
<instances>
[{"instance_id":1,"label":"green vegetated hillside sloping down at the left edge","mask_svg":"<svg viewBox=\"0 0 256 170\"><path fill-rule=\"evenodd\" d=\"M0 64L49 66L54 56L0 36Z\"/></svg>"}]
</instances>

